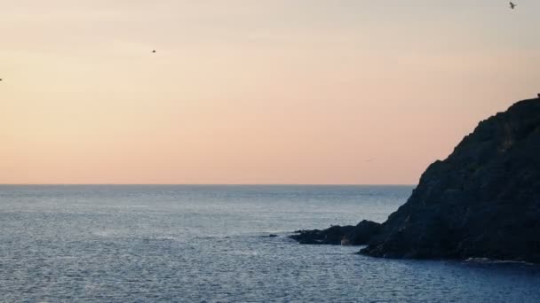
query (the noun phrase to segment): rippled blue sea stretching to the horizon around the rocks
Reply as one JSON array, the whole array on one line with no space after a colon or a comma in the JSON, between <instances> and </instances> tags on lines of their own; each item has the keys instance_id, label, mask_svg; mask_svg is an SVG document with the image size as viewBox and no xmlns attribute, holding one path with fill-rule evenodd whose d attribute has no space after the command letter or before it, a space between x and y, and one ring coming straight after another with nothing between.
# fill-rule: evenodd
<instances>
[{"instance_id":1,"label":"rippled blue sea stretching to the horizon around the rocks","mask_svg":"<svg viewBox=\"0 0 540 303\"><path fill-rule=\"evenodd\" d=\"M285 237L384 221L411 190L0 186L0 301L540 302L536 266L372 259Z\"/></svg>"}]
</instances>

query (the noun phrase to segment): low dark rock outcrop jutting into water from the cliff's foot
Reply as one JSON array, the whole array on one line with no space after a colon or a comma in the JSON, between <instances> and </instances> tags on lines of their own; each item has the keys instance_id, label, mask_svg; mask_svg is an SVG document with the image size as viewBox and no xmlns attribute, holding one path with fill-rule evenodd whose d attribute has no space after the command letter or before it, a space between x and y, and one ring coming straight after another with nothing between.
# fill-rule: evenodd
<instances>
[{"instance_id":1,"label":"low dark rock outcrop jutting into water from the cliff's foot","mask_svg":"<svg viewBox=\"0 0 540 303\"><path fill-rule=\"evenodd\" d=\"M330 229L298 230L291 238L300 244L340 245L345 237L347 245L367 245L369 239L379 232L380 223L361 221L356 226L332 226Z\"/></svg>"}]
</instances>

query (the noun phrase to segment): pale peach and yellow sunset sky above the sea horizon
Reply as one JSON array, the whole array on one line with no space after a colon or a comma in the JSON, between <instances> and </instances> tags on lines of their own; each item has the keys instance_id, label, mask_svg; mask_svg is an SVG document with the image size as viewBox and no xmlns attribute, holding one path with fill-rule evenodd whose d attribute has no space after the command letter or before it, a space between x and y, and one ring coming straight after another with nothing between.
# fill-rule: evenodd
<instances>
[{"instance_id":1,"label":"pale peach and yellow sunset sky above the sea horizon","mask_svg":"<svg viewBox=\"0 0 540 303\"><path fill-rule=\"evenodd\" d=\"M0 0L0 183L416 184L540 92L514 2Z\"/></svg>"}]
</instances>

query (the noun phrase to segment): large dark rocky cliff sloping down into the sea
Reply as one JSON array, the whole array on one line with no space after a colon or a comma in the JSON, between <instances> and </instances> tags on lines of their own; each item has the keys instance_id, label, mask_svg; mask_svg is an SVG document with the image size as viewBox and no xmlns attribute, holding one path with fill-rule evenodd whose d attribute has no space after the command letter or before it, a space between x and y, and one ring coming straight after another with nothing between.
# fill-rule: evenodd
<instances>
[{"instance_id":1,"label":"large dark rocky cliff sloping down into the sea","mask_svg":"<svg viewBox=\"0 0 540 303\"><path fill-rule=\"evenodd\" d=\"M361 253L540 262L540 98L481 121Z\"/></svg>"}]
</instances>

